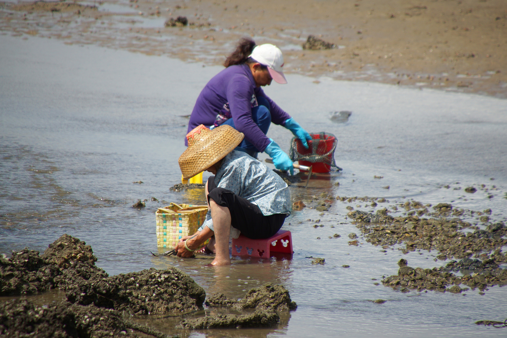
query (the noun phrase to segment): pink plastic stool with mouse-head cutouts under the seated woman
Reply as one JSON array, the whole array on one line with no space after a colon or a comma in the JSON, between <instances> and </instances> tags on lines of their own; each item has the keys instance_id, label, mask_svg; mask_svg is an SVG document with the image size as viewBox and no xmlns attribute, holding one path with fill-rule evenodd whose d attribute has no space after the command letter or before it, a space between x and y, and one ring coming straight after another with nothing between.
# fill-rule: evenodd
<instances>
[{"instance_id":1,"label":"pink plastic stool with mouse-head cutouts under the seated woman","mask_svg":"<svg viewBox=\"0 0 507 338\"><path fill-rule=\"evenodd\" d=\"M249 239L243 235L232 239L233 255L269 257L271 252L294 253L290 231L279 230L274 236L265 239Z\"/></svg>"}]
</instances>

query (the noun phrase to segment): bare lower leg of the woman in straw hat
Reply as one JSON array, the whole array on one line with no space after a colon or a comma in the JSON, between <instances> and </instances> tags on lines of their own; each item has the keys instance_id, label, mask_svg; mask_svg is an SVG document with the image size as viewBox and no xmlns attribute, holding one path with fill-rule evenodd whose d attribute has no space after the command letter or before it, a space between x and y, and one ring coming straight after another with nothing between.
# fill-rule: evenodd
<instances>
[{"instance_id":1,"label":"bare lower leg of the woman in straw hat","mask_svg":"<svg viewBox=\"0 0 507 338\"><path fill-rule=\"evenodd\" d=\"M211 218L215 233L215 259L211 265L230 265L229 235L231 233L231 212L229 208L222 207L209 199Z\"/></svg>"}]
</instances>

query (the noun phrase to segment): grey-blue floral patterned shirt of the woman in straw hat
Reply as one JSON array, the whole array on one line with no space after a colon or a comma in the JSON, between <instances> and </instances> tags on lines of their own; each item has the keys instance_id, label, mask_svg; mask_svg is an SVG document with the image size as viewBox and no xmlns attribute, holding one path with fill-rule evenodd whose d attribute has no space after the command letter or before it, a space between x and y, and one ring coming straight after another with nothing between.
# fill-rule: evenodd
<instances>
[{"instance_id":1,"label":"grey-blue floral patterned shirt of the woman in straw hat","mask_svg":"<svg viewBox=\"0 0 507 338\"><path fill-rule=\"evenodd\" d=\"M257 204L265 216L291 214L291 193L287 183L264 163L246 153L232 151L227 154L216 171L215 184ZM204 227L213 230L210 211L199 230ZM237 236L239 231L231 227L231 237Z\"/></svg>"}]
</instances>

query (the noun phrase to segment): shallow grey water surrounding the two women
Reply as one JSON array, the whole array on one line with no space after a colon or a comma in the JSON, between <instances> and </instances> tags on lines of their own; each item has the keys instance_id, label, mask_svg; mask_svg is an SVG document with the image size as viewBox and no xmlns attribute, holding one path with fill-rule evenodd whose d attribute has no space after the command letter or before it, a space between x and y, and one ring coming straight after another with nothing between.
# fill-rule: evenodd
<instances>
[{"instance_id":1,"label":"shallow grey water surrounding the two women","mask_svg":"<svg viewBox=\"0 0 507 338\"><path fill-rule=\"evenodd\" d=\"M0 59L0 253L25 246L43 251L67 233L90 244L97 266L110 275L176 266L207 294L240 298L271 281L284 285L298 303L278 328L191 332L192 337L504 335L474 322L503 320L506 288L455 295L373 285L372 278L380 282L396 274L401 257L412 267L447 262L434 260L436 252L381 252L361 238L358 247L349 246L347 235L359 231L346 219L345 207L369 211L409 199L452 201L459 208L491 208L492 220L505 220L507 101L325 78L316 84L288 75L287 85L273 84L266 92L308 131L335 134L335 158L344 168L312 179L308 189L292 187L293 199L325 191L389 203L366 208L364 202L356 201L357 207L334 200L324 215L295 211L283 227L293 235L292 259L235 258L230 268L211 268L204 267L207 256L180 260L150 251L157 251L157 207L204 202L202 190L173 193L169 187L180 179L176 160L185 149L188 123L181 116L190 114L221 67L4 35ZM335 110L352 115L333 123ZM268 135L288 149L290 132L273 125ZM488 191L463 191L480 184ZM147 207L130 208L138 199L148 200ZM313 228L317 219L324 227ZM477 216L466 220L479 223ZM342 237L328 238L335 233ZM311 265L308 256L324 257L325 265ZM370 302L378 298L388 302ZM166 320L154 325L169 330Z\"/></svg>"}]
</instances>

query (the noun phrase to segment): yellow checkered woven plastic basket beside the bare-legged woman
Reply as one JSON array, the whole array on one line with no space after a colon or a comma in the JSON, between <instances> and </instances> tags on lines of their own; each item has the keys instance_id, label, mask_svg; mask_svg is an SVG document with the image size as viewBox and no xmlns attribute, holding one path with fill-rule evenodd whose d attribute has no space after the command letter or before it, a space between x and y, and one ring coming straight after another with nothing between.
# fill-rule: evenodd
<instances>
[{"instance_id":1,"label":"yellow checkered woven plastic basket beside the bare-legged woman","mask_svg":"<svg viewBox=\"0 0 507 338\"><path fill-rule=\"evenodd\" d=\"M193 235L199 229L207 212L207 205L171 203L165 208L158 208L155 212L157 247L174 249L182 237Z\"/></svg>"}]
</instances>

